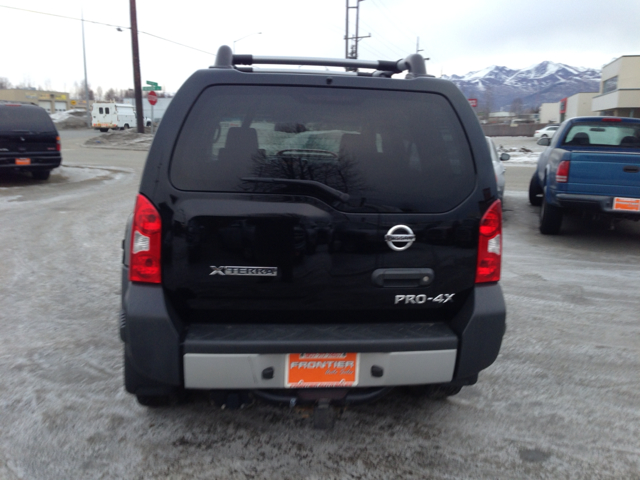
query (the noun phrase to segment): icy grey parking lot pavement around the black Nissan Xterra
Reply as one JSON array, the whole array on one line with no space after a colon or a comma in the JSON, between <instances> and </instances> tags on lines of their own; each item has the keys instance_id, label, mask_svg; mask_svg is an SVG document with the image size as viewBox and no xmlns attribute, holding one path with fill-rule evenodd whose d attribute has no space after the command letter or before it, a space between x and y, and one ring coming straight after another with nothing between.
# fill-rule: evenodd
<instances>
[{"instance_id":1,"label":"icy grey parking lot pavement around the black Nissan Xterra","mask_svg":"<svg viewBox=\"0 0 640 480\"><path fill-rule=\"evenodd\" d=\"M302 408L150 410L124 392L121 241L145 154L63 137L63 157L116 173L0 183L3 480L640 478L637 223L542 236L532 167L508 167L496 363L448 400L397 390L316 431Z\"/></svg>"}]
</instances>

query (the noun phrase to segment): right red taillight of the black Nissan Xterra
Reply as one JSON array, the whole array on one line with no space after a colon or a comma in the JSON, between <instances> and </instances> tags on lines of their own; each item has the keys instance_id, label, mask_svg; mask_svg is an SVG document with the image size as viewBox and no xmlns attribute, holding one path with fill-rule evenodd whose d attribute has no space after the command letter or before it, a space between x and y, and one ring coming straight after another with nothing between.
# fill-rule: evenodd
<instances>
[{"instance_id":1,"label":"right red taillight of the black Nissan Xterra","mask_svg":"<svg viewBox=\"0 0 640 480\"><path fill-rule=\"evenodd\" d=\"M500 281L502 264L502 203L493 202L480 220L476 283Z\"/></svg>"}]
</instances>

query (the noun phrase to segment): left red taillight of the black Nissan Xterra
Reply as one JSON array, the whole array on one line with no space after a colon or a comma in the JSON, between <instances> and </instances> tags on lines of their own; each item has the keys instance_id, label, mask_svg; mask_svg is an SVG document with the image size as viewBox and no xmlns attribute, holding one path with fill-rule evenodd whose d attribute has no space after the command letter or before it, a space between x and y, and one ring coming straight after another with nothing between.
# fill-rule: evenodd
<instances>
[{"instance_id":1,"label":"left red taillight of the black Nissan Xterra","mask_svg":"<svg viewBox=\"0 0 640 480\"><path fill-rule=\"evenodd\" d=\"M138 195L131 228L129 280L160 283L160 237L162 220L158 210L144 196Z\"/></svg>"}]
</instances>

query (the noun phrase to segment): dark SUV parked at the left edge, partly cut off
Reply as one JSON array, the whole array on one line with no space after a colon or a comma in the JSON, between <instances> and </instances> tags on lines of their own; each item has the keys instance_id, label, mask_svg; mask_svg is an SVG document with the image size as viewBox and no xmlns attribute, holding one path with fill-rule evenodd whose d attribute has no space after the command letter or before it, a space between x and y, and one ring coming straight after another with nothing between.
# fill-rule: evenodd
<instances>
[{"instance_id":1,"label":"dark SUV parked at the left edge, partly cut off","mask_svg":"<svg viewBox=\"0 0 640 480\"><path fill-rule=\"evenodd\" d=\"M47 180L61 162L60 136L44 108L0 102L0 174L25 171Z\"/></svg>"}]
</instances>

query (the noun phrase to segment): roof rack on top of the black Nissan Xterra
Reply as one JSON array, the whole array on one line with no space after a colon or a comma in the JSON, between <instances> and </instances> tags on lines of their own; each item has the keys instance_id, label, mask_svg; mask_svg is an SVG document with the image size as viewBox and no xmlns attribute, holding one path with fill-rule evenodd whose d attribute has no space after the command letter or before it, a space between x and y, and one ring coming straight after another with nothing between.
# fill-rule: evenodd
<instances>
[{"instance_id":1,"label":"roof rack on top of the black Nissan Xterra","mask_svg":"<svg viewBox=\"0 0 640 480\"><path fill-rule=\"evenodd\" d=\"M347 71L355 72L358 68L371 68L375 72L365 74L366 76L390 77L394 73L408 71L407 78L431 77L427 75L424 58L417 53L413 53L403 60L356 60L350 58L313 58L313 57L263 57L254 55L235 55L231 48L222 45L218 49L216 63L211 68L235 68L236 65L309 65L321 67L344 67ZM237 68L243 72L253 71L248 68ZM263 70L269 71L269 70ZM282 70L278 70L282 72ZM297 72L304 73L304 72ZM326 72L310 72L326 73Z\"/></svg>"}]
</instances>

